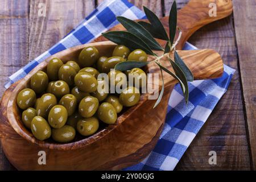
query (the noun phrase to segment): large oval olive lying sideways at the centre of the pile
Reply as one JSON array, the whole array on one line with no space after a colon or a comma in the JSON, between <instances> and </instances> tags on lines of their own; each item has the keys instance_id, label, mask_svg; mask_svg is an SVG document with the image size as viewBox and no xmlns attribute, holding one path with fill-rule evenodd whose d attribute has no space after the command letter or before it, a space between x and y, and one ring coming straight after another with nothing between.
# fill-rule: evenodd
<instances>
[{"instance_id":1,"label":"large oval olive lying sideways at the centre of the pile","mask_svg":"<svg viewBox=\"0 0 256 182\"><path fill-rule=\"evenodd\" d=\"M97 90L98 82L96 78L90 73L80 72L75 76L75 84L82 92L95 92Z\"/></svg>"}]
</instances>

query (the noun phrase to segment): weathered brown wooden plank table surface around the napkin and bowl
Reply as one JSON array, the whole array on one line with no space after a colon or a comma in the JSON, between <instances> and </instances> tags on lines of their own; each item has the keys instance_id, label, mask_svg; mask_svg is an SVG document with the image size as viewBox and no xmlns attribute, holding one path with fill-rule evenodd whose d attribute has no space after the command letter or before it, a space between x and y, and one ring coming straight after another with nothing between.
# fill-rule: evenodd
<instances>
[{"instance_id":1,"label":"weathered brown wooden plank table surface around the napkin and bowl","mask_svg":"<svg viewBox=\"0 0 256 182\"><path fill-rule=\"evenodd\" d=\"M8 76L63 38L100 2L0 0L0 95ZM131 2L160 17L168 15L172 0ZM188 0L176 2L180 9ZM46 5L46 16L38 16L39 3ZM256 169L256 1L233 0L233 5L232 16L201 28L189 39L196 47L216 49L236 73L177 170ZM216 151L216 165L208 163L209 151ZM0 170L11 169L15 168L0 146Z\"/></svg>"}]
</instances>

